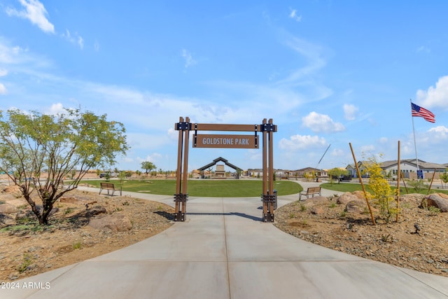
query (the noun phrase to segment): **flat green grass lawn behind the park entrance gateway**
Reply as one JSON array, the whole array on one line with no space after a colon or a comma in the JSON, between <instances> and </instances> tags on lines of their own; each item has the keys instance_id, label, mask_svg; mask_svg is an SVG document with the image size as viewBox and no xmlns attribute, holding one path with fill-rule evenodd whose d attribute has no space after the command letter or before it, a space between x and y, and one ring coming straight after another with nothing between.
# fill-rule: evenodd
<instances>
[{"instance_id":1,"label":"flat green grass lawn behind the park entrance gateway","mask_svg":"<svg viewBox=\"0 0 448 299\"><path fill-rule=\"evenodd\" d=\"M102 181L104 182L104 180L88 180L80 183L88 183L99 188L99 183ZM120 181L111 180L110 182L120 186ZM123 181L123 190L158 195L174 195L176 193L176 181L160 179ZM299 193L303 188L293 181L274 181L274 190L277 190L277 195L288 195ZM262 181L259 180L188 180L189 196L258 197L261 193Z\"/></svg>"}]
</instances>

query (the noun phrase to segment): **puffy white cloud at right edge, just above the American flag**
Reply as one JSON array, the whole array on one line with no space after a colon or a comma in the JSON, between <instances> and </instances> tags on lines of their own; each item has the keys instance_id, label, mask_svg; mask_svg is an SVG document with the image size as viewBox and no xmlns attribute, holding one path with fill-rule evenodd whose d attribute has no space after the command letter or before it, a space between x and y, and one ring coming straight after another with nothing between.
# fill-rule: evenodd
<instances>
[{"instance_id":1,"label":"puffy white cloud at right edge, just above the American flag","mask_svg":"<svg viewBox=\"0 0 448 299\"><path fill-rule=\"evenodd\" d=\"M417 102L421 103L419 106L425 108L440 107L442 109L447 109L447 98L448 76L439 78L439 81L435 83L435 87L430 86L428 90L417 90L416 95ZM432 112L437 115L434 111Z\"/></svg>"}]
</instances>

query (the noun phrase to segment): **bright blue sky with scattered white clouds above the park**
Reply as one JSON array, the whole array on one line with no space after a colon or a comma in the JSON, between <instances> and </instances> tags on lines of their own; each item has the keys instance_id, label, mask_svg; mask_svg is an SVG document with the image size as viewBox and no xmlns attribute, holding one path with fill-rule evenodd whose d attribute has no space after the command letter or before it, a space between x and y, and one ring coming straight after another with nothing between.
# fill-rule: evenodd
<instances>
[{"instance_id":1,"label":"bright blue sky with scattered white clouds above the park","mask_svg":"<svg viewBox=\"0 0 448 299\"><path fill-rule=\"evenodd\" d=\"M274 167L382 154L447 163L448 2L0 0L0 110L106 113L131 146L113 168L176 169L174 123L272 118ZM212 132L219 134L220 132ZM226 132L223 132L226 133ZM330 146L331 144L331 146ZM321 159L325 149L328 152ZM262 151L190 148L189 170Z\"/></svg>"}]
</instances>

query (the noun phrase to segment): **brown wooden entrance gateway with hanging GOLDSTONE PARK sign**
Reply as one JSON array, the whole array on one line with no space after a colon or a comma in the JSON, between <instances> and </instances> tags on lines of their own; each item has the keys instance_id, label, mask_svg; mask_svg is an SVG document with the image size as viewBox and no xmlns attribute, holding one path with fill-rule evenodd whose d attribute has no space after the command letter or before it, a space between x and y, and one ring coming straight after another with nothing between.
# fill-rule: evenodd
<instances>
[{"instance_id":1,"label":"brown wooden entrance gateway with hanging GOLDSTONE PARK sign","mask_svg":"<svg viewBox=\"0 0 448 299\"><path fill-rule=\"evenodd\" d=\"M190 118L179 118L175 124L179 131L179 148L177 154L176 194L174 195L175 221L186 220L186 205L188 200L188 143L190 132L194 132L193 147L195 148L260 148L258 134L262 136L262 221L274 222L274 147L273 133L277 131L272 118L266 118L256 125L222 125L190 123ZM228 131L252 132L248 134L197 134L198 131ZM182 168L184 169L182 171Z\"/></svg>"}]
</instances>

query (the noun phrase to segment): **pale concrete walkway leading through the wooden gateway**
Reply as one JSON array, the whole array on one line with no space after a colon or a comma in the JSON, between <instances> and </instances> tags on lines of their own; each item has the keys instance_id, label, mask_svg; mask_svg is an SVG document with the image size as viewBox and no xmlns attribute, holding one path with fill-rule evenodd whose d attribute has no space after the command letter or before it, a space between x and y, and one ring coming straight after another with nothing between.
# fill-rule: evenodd
<instances>
[{"instance_id":1,"label":"pale concrete walkway leading through the wooden gateway","mask_svg":"<svg viewBox=\"0 0 448 299\"><path fill-rule=\"evenodd\" d=\"M132 196L174 204L172 197ZM279 206L297 198L279 197ZM186 222L15 281L18 288L0 289L0 298L448 298L447 278L297 239L262 223L260 206L256 197L190 197Z\"/></svg>"}]
</instances>

